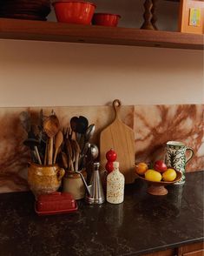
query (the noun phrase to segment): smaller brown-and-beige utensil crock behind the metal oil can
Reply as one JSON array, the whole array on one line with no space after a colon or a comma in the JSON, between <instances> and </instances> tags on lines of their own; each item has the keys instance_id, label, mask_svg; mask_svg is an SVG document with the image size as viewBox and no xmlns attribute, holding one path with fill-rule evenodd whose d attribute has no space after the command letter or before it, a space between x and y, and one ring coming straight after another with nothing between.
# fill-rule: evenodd
<instances>
[{"instance_id":1,"label":"smaller brown-and-beige utensil crock behind the metal oil can","mask_svg":"<svg viewBox=\"0 0 204 256\"><path fill-rule=\"evenodd\" d=\"M87 172L80 171L84 179L87 179ZM63 177L63 192L69 192L74 199L83 199L85 197L85 186L83 185L80 174L72 171L66 172Z\"/></svg>"}]
</instances>

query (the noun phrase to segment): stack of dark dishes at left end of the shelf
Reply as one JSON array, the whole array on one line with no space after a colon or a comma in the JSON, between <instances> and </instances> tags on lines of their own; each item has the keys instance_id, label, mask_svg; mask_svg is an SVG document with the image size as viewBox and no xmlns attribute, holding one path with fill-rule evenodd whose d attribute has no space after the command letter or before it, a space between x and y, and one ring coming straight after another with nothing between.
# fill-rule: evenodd
<instances>
[{"instance_id":1,"label":"stack of dark dishes at left end of the shelf","mask_svg":"<svg viewBox=\"0 0 204 256\"><path fill-rule=\"evenodd\" d=\"M49 0L0 0L0 17L46 20Z\"/></svg>"}]
</instances>

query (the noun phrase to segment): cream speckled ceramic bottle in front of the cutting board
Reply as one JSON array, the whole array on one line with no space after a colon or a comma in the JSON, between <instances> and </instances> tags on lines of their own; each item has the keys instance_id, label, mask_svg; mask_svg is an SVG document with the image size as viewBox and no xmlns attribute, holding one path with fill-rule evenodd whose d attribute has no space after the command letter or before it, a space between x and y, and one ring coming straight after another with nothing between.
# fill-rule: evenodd
<instances>
[{"instance_id":1,"label":"cream speckled ceramic bottle in front of the cutting board","mask_svg":"<svg viewBox=\"0 0 204 256\"><path fill-rule=\"evenodd\" d=\"M121 204L124 200L124 175L119 171L119 162L114 162L114 171L107 176L106 199L111 204Z\"/></svg>"}]
</instances>

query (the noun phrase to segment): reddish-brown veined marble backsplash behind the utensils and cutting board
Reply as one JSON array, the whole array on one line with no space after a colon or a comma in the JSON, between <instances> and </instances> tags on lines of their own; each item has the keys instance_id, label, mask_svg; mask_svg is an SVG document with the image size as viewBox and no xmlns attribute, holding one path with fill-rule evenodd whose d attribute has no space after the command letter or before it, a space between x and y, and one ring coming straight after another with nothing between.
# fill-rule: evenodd
<instances>
[{"instance_id":1,"label":"reddish-brown veined marble backsplash behind the utensils and cutting board","mask_svg":"<svg viewBox=\"0 0 204 256\"><path fill-rule=\"evenodd\" d=\"M51 107L43 107L49 115ZM27 134L19 114L30 111L36 122L41 108L0 108L0 192L28 190L28 149L23 145ZM70 118L85 116L95 124L92 142L98 145L99 134L115 117L112 106L55 107L61 127L69 126ZM177 140L194 149L194 158L187 172L204 170L203 104L129 105L122 106L122 121L135 131L135 162L155 161L164 157L164 145Z\"/></svg>"}]
</instances>

